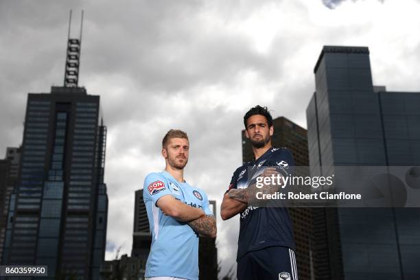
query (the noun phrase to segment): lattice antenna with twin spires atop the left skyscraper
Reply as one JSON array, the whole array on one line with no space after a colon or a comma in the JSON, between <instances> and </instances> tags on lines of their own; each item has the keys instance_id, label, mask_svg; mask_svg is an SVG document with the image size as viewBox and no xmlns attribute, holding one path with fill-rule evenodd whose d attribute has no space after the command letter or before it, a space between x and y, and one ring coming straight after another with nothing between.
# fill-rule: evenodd
<instances>
[{"instance_id":1,"label":"lattice antenna with twin spires atop the left skyscraper","mask_svg":"<svg viewBox=\"0 0 420 280\"><path fill-rule=\"evenodd\" d=\"M82 45L83 11L80 21L79 38L70 38L71 31L71 10L69 17L69 33L67 34L67 53L65 67L65 87L78 87L80 69L80 47Z\"/></svg>"}]
</instances>

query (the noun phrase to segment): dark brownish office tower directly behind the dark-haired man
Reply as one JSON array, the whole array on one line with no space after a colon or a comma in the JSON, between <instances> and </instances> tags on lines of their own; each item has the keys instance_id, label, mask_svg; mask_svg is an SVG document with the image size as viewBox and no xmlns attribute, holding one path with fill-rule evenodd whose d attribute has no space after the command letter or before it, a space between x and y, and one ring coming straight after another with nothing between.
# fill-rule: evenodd
<instances>
[{"instance_id":1,"label":"dark brownish office tower directly behind the dark-haired man","mask_svg":"<svg viewBox=\"0 0 420 280\"><path fill-rule=\"evenodd\" d=\"M307 156L307 132L285 117L278 117L272 121L274 135L272 145L274 147L288 148L294 157L296 168L295 176L307 176L304 167L309 165ZM245 130L242 130L242 161L253 160L254 154L252 145L245 137ZM295 173L296 173L295 172ZM311 279L311 233L312 233L312 210L303 207L289 208L290 218L293 224L294 240L296 242L296 266L298 277L301 280Z\"/></svg>"}]
</instances>

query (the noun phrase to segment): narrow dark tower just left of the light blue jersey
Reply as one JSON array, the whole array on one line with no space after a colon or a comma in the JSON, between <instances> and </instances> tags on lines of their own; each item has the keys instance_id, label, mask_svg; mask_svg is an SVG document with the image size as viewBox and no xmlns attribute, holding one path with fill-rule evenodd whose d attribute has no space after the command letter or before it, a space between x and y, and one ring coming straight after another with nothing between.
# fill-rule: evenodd
<instances>
[{"instance_id":1,"label":"narrow dark tower just left of the light blue jersey","mask_svg":"<svg viewBox=\"0 0 420 280\"><path fill-rule=\"evenodd\" d=\"M147 259L151 244L152 235L149 228L148 213L143 202L143 189L139 189L135 193L135 217L131 257Z\"/></svg>"}]
</instances>

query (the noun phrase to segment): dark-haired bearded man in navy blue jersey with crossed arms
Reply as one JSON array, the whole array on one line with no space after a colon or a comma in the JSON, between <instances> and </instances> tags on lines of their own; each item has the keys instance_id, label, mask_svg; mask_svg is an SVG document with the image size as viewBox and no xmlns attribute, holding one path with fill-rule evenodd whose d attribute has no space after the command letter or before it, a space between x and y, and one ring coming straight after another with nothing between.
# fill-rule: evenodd
<instances>
[{"instance_id":1,"label":"dark-haired bearded man in navy blue jersey with crossed arms","mask_svg":"<svg viewBox=\"0 0 420 280\"><path fill-rule=\"evenodd\" d=\"M255 106L244 116L245 135L253 146L254 161L233 172L223 197L220 215L227 220L240 213L237 244L238 280L297 280L295 244L288 210L255 207L257 192L274 194L280 185L256 186L259 176L289 176L293 156L287 148L272 148L272 117L266 107Z\"/></svg>"}]
</instances>

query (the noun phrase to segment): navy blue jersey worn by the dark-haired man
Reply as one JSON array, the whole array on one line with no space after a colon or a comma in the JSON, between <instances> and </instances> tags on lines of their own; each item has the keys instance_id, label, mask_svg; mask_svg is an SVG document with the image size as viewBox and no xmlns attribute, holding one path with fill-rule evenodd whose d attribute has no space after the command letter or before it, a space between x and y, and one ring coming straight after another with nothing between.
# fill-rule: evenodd
<instances>
[{"instance_id":1,"label":"navy blue jersey worn by the dark-haired man","mask_svg":"<svg viewBox=\"0 0 420 280\"><path fill-rule=\"evenodd\" d=\"M244 189L254 183L255 176L264 167L276 167L288 176L292 174L294 161L287 148L271 148L256 161L250 161L233 172L229 189ZM240 235L237 244L237 259L253 250L270 246L285 246L295 250L292 222L288 209L281 207L249 206L240 213Z\"/></svg>"}]
</instances>

